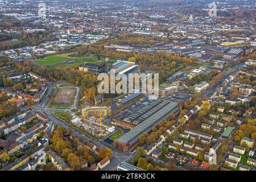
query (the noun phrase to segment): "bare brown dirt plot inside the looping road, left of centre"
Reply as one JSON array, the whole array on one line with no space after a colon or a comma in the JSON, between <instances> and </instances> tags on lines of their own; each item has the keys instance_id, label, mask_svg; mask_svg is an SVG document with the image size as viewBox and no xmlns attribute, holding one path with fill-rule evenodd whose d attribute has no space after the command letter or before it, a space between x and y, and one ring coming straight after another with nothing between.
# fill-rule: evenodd
<instances>
[{"instance_id":1,"label":"bare brown dirt plot inside the looping road, left of centre","mask_svg":"<svg viewBox=\"0 0 256 182\"><path fill-rule=\"evenodd\" d=\"M69 104L74 100L75 89L62 88L57 92L54 99L55 104Z\"/></svg>"}]
</instances>

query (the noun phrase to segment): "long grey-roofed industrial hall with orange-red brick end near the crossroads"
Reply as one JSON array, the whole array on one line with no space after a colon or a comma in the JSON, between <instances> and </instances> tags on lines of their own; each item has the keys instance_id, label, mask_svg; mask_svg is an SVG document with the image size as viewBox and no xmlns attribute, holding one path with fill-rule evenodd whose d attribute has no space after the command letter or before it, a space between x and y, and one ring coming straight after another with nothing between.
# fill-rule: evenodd
<instances>
[{"instance_id":1,"label":"long grey-roofed industrial hall with orange-red brick end near the crossroads","mask_svg":"<svg viewBox=\"0 0 256 182\"><path fill-rule=\"evenodd\" d=\"M114 140L114 146L130 151L138 145L139 136L143 133L149 133L153 126L157 126L164 119L168 118L172 113L175 113L179 107L176 102L163 100L155 100L148 108L149 110L136 118L131 118L132 122L139 121L138 125L122 137Z\"/></svg>"}]
</instances>

